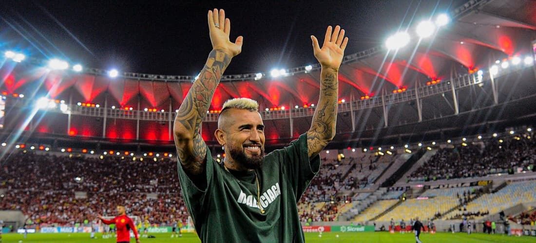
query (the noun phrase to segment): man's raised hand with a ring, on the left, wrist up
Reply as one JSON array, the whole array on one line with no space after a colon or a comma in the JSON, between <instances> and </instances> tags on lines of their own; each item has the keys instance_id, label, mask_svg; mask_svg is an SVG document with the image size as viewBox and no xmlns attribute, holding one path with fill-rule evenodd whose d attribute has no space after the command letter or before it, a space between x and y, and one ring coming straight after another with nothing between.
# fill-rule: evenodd
<instances>
[{"instance_id":1,"label":"man's raised hand with a ring, on the left, wrist up","mask_svg":"<svg viewBox=\"0 0 536 243\"><path fill-rule=\"evenodd\" d=\"M229 41L231 22L225 18L225 11L220 9L209 10L209 31L212 49L225 51L231 57L242 52L243 37L236 38L235 43Z\"/></svg>"}]
</instances>

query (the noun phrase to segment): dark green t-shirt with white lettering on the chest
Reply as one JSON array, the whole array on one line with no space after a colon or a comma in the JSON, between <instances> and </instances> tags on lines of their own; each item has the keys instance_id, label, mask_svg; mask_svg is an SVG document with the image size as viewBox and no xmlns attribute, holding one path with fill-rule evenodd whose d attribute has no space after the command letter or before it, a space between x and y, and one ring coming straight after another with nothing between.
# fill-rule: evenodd
<instances>
[{"instance_id":1,"label":"dark green t-shirt with white lettering on the chest","mask_svg":"<svg viewBox=\"0 0 536 243\"><path fill-rule=\"evenodd\" d=\"M297 201L320 169L319 156L309 162L307 136L264 156L255 172L227 171L207 148L206 181L192 182L178 163L184 202L203 242L303 242ZM196 185L203 185L199 188Z\"/></svg>"}]
</instances>

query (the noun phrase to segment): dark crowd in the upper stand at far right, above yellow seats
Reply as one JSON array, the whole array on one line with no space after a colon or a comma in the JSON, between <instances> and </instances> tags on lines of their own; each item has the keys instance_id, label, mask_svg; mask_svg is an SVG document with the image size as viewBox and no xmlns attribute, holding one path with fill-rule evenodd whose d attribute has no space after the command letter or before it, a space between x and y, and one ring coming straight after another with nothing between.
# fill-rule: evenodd
<instances>
[{"instance_id":1,"label":"dark crowd in the upper stand at far right, above yellow seats","mask_svg":"<svg viewBox=\"0 0 536 243\"><path fill-rule=\"evenodd\" d=\"M433 181L515 173L536 163L536 139L530 136L490 138L441 148L411 174L411 181Z\"/></svg>"}]
</instances>

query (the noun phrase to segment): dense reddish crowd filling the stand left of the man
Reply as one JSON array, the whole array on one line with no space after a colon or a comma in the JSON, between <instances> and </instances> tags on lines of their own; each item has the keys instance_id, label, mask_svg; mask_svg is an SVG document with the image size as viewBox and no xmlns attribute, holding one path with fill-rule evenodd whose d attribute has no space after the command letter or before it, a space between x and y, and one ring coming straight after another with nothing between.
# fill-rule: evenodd
<instances>
[{"instance_id":1,"label":"dense reddish crowd filling the stand left of the man","mask_svg":"<svg viewBox=\"0 0 536 243\"><path fill-rule=\"evenodd\" d=\"M151 224L186 222L177 165L169 159L133 161L106 156L12 154L2 164L0 209L21 210L28 222L73 225L98 214L114 216L118 204Z\"/></svg>"}]
</instances>

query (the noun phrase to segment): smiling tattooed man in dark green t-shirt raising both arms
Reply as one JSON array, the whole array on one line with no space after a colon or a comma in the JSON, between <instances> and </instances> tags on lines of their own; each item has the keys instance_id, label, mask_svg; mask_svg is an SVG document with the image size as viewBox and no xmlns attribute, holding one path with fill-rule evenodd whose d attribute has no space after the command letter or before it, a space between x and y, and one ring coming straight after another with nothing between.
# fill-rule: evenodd
<instances>
[{"instance_id":1,"label":"smiling tattooed man in dark green t-shirt raising both arms","mask_svg":"<svg viewBox=\"0 0 536 243\"><path fill-rule=\"evenodd\" d=\"M214 132L226 157L217 163L199 134L221 76L242 51L229 41L224 10L207 14L212 51L178 109L174 138L184 201L203 242L303 242L296 203L320 168L318 153L335 135L338 70L348 38L327 27L322 47L311 36L322 66L311 128L287 147L264 154L264 124L256 101L228 100Z\"/></svg>"}]
</instances>

